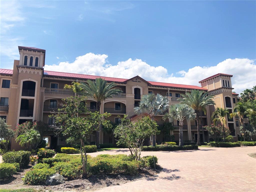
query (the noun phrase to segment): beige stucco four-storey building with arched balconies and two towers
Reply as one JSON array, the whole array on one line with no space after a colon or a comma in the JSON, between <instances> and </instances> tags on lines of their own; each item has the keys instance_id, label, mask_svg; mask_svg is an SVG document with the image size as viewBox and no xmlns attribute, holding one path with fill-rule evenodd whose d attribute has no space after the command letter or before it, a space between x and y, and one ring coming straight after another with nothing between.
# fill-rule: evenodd
<instances>
[{"instance_id":1,"label":"beige stucco four-storey building with arched balconies and two towers","mask_svg":"<svg viewBox=\"0 0 256 192\"><path fill-rule=\"evenodd\" d=\"M15 129L17 124L25 121L43 121L49 125L54 122L49 119L51 111L57 111L61 108L61 99L74 95L71 90L64 89L65 84L71 84L73 81L85 82L88 79L95 80L98 76L44 71L45 50L33 47L18 47L20 60L14 60L13 70L1 69L1 118L6 119L7 124ZM131 79L101 77L108 82L115 82L116 89L120 89L123 93L108 98L101 105L101 112L109 112L111 116L109 120L114 123L120 122L120 117L127 114L133 120L140 118L134 115L133 108L138 106L142 95L148 93L162 94L168 96L170 105L178 103L177 99L193 89L204 90L208 94L214 95L215 106L207 108L207 114L201 113L201 124L209 125L211 123L211 114L217 107L227 108L232 111L237 102L237 95L232 93L232 75L216 74L202 81L201 87L152 82L142 79L139 76ZM96 110L96 103L93 99L88 98L86 102L90 111ZM119 117L120 116L120 117ZM159 126L163 125L163 115L156 116ZM170 134L178 140L178 122L174 121L175 129ZM197 122L184 121L184 140L197 140ZM238 139L240 121L238 117L227 119L227 125L231 131L234 140ZM207 131L204 131L205 141L209 140ZM49 132L48 145L55 148L57 145L64 145L65 139L61 136L55 136L53 132ZM202 141L202 130L201 130ZM89 139L90 142L95 141L94 135ZM163 141L162 135L157 135L157 143ZM115 142L113 138L103 131L100 132L100 143ZM150 143L150 141L148 141ZM11 141L11 149L19 149L14 138Z\"/></svg>"}]
</instances>

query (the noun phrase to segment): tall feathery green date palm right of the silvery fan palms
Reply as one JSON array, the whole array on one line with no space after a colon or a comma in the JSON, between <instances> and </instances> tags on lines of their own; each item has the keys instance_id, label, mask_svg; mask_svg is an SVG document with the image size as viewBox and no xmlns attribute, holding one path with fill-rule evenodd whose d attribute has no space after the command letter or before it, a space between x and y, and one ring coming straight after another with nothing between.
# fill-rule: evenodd
<instances>
[{"instance_id":1,"label":"tall feathery green date palm right of the silvery fan palms","mask_svg":"<svg viewBox=\"0 0 256 192\"><path fill-rule=\"evenodd\" d=\"M212 98L214 98L214 95L208 95L208 93L199 90L191 90L190 93L181 95L183 98L179 99L180 103L187 104L195 110L197 121L197 145L201 145L199 113L201 111L204 111L207 106L215 105L215 102L212 100Z\"/></svg>"}]
</instances>

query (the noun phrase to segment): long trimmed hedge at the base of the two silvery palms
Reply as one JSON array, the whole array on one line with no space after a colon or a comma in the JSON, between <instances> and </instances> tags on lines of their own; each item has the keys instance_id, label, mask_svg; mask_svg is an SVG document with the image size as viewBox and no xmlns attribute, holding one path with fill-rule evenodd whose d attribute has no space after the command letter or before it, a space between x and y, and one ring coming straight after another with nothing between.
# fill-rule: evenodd
<instances>
[{"instance_id":1,"label":"long trimmed hedge at the base of the two silvery palms","mask_svg":"<svg viewBox=\"0 0 256 192\"><path fill-rule=\"evenodd\" d=\"M142 151L182 151L182 150L197 150L197 145L156 145L153 146L143 146Z\"/></svg>"}]
</instances>

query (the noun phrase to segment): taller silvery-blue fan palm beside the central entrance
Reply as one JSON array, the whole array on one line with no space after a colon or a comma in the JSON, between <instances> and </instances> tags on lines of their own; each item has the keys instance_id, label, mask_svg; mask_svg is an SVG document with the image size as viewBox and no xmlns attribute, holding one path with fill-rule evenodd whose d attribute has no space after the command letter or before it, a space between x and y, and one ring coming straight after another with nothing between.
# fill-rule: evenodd
<instances>
[{"instance_id":1,"label":"taller silvery-blue fan palm beside the central entrance","mask_svg":"<svg viewBox=\"0 0 256 192\"><path fill-rule=\"evenodd\" d=\"M135 114L139 115L142 113L148 113L151 120L154 121L156 115L163 114L169 105L168 97L154 94L143 95L141 98L140 105L134 107ZM152 135L152 146L156 146L156 136Z\"/></svg>"}]
</instances>

